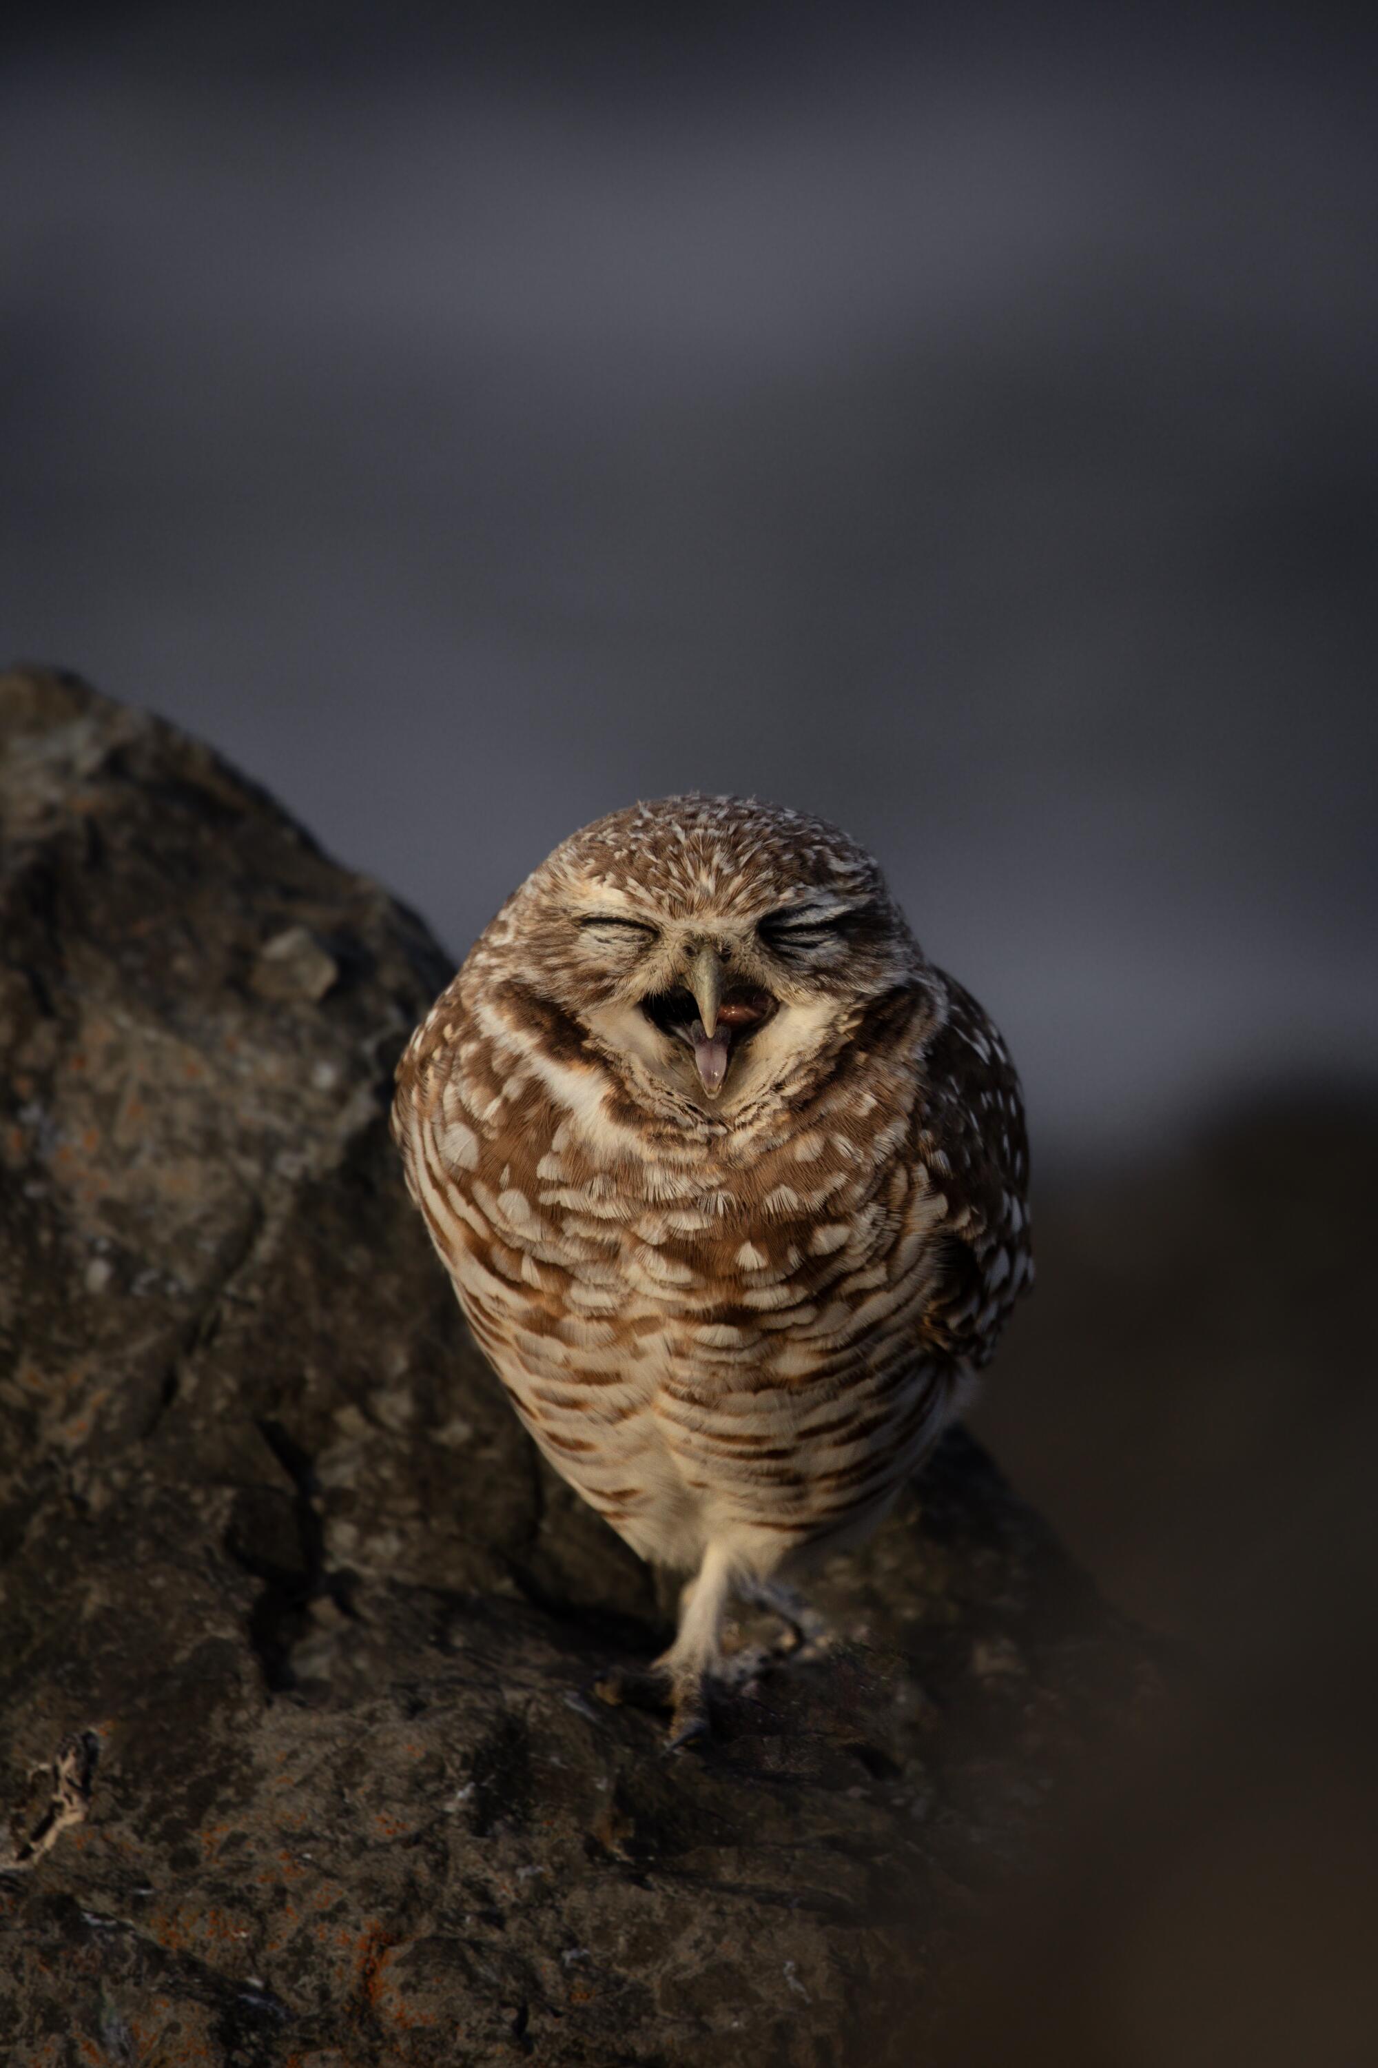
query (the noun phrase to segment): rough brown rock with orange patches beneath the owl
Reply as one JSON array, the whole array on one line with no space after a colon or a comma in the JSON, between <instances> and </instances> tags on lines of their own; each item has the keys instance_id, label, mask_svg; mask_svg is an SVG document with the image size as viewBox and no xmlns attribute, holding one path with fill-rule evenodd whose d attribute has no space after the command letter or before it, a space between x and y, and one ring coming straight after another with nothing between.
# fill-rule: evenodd
<instances>
[{"instance_id":1,"label":"rough brown rock with orange patches beneath the owl","mask_svg":"<svg viewBox=\"0 0 1378 2068\"><path fill-rule=\"evenodd\" d=\"M72 678L0 751L0 2058L909 2060L1136 1642L952 1435L702 1756L591 1704L663 1605L386 1139L448 964Z\"/></svg>"}]
</instances>

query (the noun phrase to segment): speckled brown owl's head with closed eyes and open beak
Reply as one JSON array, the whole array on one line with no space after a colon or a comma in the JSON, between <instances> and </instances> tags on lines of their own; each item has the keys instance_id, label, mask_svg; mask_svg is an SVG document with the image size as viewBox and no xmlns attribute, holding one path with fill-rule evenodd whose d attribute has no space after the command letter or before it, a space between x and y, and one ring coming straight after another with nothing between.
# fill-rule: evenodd
<instances>
[{"instance_id":1,"label":"speckled brown owl's head with closed eyes and open beak","mask_svg":"<svg viewBox=\"0 0 1378 2068\"><path fill-rule=\"evenodd\" d=\"M735 796L599 819L490 933L508 974L620 1075L723 1117L928 968L870 854L820 819Z\"/></svg>"}]
</instances>

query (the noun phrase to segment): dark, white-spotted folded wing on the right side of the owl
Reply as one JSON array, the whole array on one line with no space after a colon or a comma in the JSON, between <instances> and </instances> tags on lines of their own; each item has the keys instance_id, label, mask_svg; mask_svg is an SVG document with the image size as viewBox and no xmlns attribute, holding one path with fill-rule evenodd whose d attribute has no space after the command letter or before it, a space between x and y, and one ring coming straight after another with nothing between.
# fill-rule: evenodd
<instances>
[{"instance_id":1,"label":"dark, white-spotted folded wing on the right side of the owl","mask_svg":"<svg viewBox=\"0 0 1378 2068\"><path fill-rule=\"evenodd\" d=\"M1029 1142L1019 1077L1000 1032L950 976L950 1013L923 1057L915 1160L946 1197L942 1266L923 1315L934 1348L983 1365L1033 1282Z\"/></svg>"}]
</instances>

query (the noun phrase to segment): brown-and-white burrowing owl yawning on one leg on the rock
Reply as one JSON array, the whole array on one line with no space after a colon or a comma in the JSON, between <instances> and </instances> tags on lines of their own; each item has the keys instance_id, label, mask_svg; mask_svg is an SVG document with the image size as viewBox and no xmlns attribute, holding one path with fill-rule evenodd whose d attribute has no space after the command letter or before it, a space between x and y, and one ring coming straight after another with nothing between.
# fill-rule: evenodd
<instances>
[{"instance_id":1,"label":"brown-and-white burrowing owl yawning on one leg on the rock","mask_svg":"<svg viewBox=\"0 0 1378 2068\"><path fill-rule=\"evenodd\" d=\"M397 1077L512 1406L692 1576L653 1669L682 1743L729 1594L884 1516L1031 1278L1004 1042L845 833L678 796L556 848Z\"/></svg>"}]
</instances>

